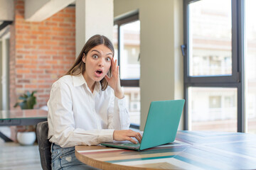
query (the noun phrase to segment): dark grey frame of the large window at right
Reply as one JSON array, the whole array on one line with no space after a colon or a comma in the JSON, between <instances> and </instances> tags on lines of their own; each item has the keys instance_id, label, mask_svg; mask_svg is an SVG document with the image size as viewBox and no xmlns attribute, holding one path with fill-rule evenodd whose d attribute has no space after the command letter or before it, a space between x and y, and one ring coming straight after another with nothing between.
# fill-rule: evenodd
<instances>
[{"instance_id":1,"label":"dark grey frame of the large window at right","mask_svg":"<svg viewBox=\"0 0 256 170\"><path fill-rule=\"evenodd\" d=\"M188 5L202 0L183 0L184 50L183 79L184 98L188 101L188 87L235 87L238 91L238 132L245 132L245 86L244 86L244 0L230 0L232 10L232 74L230 76L189 76L189 9ZM184 107L183 129L188 130L188 102Z\"/></svg>"}]
</instances>

